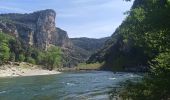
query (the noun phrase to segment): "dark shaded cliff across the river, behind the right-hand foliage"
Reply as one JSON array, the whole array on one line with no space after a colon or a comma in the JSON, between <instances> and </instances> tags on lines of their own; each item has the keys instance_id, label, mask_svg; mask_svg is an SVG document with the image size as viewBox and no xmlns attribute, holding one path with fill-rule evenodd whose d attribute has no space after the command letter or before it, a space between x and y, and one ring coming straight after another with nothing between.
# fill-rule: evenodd
<instances>
[{"instance_id":1,"label":"dark shaded cliff across the river, behind the right-hand foliage","mask_svg":"<svg viewBox=\"0 0 170 100\"><path fill-rule=\"evenodd\" d=\"M131 42L125 43L123 36L115 32L98 52L90 56L87 63L105 62L103 70L146 71L147 60L143 48Z\"/></svg>"}]
</instances>

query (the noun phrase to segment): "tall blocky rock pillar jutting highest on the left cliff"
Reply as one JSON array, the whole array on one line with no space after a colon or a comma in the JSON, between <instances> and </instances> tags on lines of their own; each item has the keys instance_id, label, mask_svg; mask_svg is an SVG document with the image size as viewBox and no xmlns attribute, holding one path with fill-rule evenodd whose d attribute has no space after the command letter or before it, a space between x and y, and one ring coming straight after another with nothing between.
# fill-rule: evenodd
<instances>
[{"instance_id":1,"label":"tall blocky rock pillar jutting highest on the left cliff","mask_svg":"<svg viewBox=\"0 0 170 100\"><path fill-rule=\"evenodd\" d=\"M56 13L53 10L45 10L34 14L38 16L35 23L35 43L39 48L47 49L50 44L53 44L53 35L57 34L55 27Z\"/></svg>"}]
</instances>

